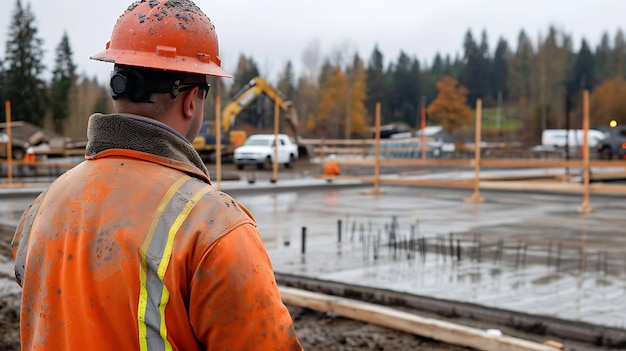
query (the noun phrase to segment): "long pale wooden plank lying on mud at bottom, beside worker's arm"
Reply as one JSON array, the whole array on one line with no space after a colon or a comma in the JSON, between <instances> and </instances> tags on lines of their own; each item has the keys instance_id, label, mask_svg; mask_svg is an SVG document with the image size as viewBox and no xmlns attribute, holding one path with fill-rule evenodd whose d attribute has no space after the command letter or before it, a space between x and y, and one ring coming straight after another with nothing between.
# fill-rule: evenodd
<instances>
[{"instance_id":1,"label":"long pale wooden plank lying on mud at bottom, beside worker's arm","mask_svg":"<svg viewBox=\"0 0 626 351\"><path fill-rule=\"evenodd\" d=\"M283 302L288 305L335 313L346 318L377 324L448 344L485 351L558 350L536 342L505 335L494 335L484 330L425 318L385 306L288 287L279 287L279 289Z\"/></svg>"}]
</instances>

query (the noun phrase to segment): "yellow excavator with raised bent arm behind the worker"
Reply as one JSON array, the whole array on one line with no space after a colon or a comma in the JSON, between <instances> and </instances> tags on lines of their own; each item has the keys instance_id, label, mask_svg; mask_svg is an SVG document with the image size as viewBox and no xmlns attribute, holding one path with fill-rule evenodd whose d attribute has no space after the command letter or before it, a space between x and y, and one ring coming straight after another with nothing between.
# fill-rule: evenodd
<instances>
[{"instance_id":1,"label":"yellow excavator with raised bent arm behind the worker","mask_svg":"<svg viewBox=\"0 0 626 351\"><path fill-rule=\"evenodd\" d=\"M259 96L265 95L278 105L283 117L291 129L296 143L299 143L298 115L293 103L286 101L280 92L260 77L252 78L239 92L226 104L222 110L222 158L232 156L235 148L241 146L247 139L246 132L233 129L239 113L245 110ZM204 121L200 133L193 141L194 148L205 160L212 160L216 149L214 123ZM300 147L300 146L299 146Z\"/></svg>"}]
</instances>

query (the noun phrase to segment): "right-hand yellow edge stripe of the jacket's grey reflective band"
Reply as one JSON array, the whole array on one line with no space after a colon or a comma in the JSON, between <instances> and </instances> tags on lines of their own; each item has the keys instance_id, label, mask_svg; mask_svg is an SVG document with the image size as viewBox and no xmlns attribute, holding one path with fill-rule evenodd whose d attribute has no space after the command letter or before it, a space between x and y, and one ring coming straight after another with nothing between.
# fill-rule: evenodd
<instances>
[{"instance_id":1,"label":"right-hand yellow edge stripe of the jacket's grey reflective band","mask_svg":"<svg viewBox=\"0 0 626 351\"><path fill-rule=\"evenodd\" d=\"M178 229L180 229L180 226L183 224L183 222L185 221L185 219L187 218L191 210L193 210L193 208L196 206L198 201L200 201L200 199L204 195L206 195L209 191L211 191L211 188L204 187L203 189L198 191L196 194L194 194L194 196L185 204L185 207L178 214L178 216L176 217L176 220L170 227L169 232L167 234L167 244L165 245L165 250L163 251L163 258L161 262L159 263L158 275L161 281L165 281L165 271L167 270L167 267L169 266L170 258L172 257L172 251L174 247L174 237L176 236ZM165 341L165 350L168 350L168 351L172 350L172 345L170 345L170 343L167 341L167 326L165 325L165 305L167 305L169 298L170 298L169 290L167 290L167 286L163 284L163 294L161 296L161 304L159 305L159 313L161 314L160 332L161 332L161 337Z\"/></svg>"}]
</instances>

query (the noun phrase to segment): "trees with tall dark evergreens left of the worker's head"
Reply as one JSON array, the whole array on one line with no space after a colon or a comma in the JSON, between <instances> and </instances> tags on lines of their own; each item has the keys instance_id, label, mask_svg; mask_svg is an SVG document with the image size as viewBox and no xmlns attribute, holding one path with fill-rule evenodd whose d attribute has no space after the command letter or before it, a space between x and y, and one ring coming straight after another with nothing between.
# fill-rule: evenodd
<instances>
[{"instance_id":1,"label":"trees with tall dark evergreens left of the worker's head","mask_svg":"<svg viewBox=\"0 0 626 351\"><path fill-rule=\"evenodd\" d=\"M5 56L0 58L0 99L11 102L11 119L26 121L60 135L85 137L88 116L110 112L108 89L96 78L76 73L72 49L64 33L55 49L50 81L42 76L43 41L30 4L17 0L8 27ZM6 121L6 110L0 109Z\"/></svg>"}]
</instances>

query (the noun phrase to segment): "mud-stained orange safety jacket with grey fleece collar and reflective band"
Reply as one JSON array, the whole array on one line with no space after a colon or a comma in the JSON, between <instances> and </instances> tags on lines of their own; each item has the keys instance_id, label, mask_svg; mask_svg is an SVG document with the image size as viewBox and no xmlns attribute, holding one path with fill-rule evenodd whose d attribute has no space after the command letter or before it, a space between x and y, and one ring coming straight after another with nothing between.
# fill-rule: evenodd
<instances>
[{"instance_id":1,"label":"mud-stained orange safety jacket with grey fleece collar and reflective band","mask_svg":"<svg viewBox=\"0 0 626 351\"><path fill-rule=\"evenodd\" d=\"M302 349L254 218L166 129L93 115L87 160L25 211L22 350Z\"/></svg>"}]
</instances>

